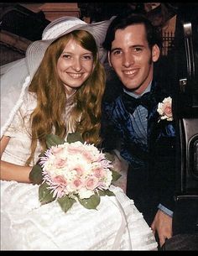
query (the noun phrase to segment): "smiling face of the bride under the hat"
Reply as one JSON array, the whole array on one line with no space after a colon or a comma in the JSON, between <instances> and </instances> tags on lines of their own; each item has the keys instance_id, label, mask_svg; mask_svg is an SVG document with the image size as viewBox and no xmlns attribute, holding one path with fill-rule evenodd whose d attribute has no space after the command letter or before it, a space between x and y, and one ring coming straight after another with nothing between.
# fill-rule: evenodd
<instances>
[{"instance_id":1,"label":"smiling face of the bride under the hat","mask_svg":"<svg viewBox=\"0 0 198 256\"><path fill-rule=\"evenodd\" d=\"M70 39L57 61L56 68L66 93L70 94L91 75L94 69L93 55L75 39Z\"/></svg>"}]
</instances>

